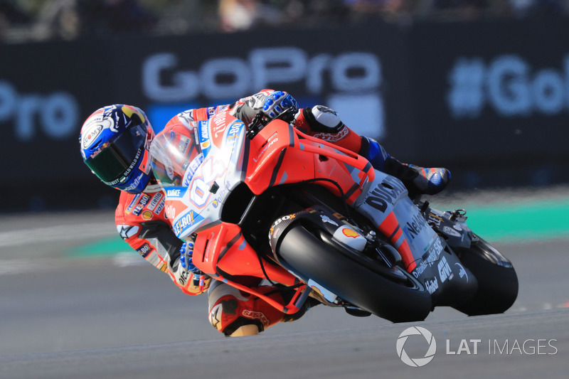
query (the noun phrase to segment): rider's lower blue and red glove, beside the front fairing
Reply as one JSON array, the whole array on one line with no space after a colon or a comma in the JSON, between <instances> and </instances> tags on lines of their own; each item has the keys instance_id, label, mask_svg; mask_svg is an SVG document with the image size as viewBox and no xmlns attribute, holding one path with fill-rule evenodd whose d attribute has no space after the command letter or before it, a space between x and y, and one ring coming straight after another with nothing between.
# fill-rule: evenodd
<instances>
[{"instance_id":1,"label":"rider's lower blue and red glove, beside the front fairing","mask_svg":"<svg viewBox=\"0 0 569 379\"><path fill-rule=\"evenodd\" d=\"M201 272L191 260L193 242L184 242L180 248L180 256L169 264L169 270L176 284L188 294L202 294L209 288L211 277Z\"/></svg>"}]
</instances>

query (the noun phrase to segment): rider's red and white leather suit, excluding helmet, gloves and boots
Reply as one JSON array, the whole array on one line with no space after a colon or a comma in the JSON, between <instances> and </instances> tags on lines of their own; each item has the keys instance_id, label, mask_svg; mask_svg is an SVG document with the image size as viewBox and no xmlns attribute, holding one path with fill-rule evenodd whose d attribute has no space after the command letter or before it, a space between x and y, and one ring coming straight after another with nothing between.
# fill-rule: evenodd
<instances>
[{"instance_id":1,"label":"rider's red and white leather suit, excluding helmet, gloves and boots","mask_svg":"<svg viewBox=\"0 0 569 379\"><path fill-rule=\"evenodd\" d=\"M250 125L256 114L262 110L265 98L273 90L262 90L250 97L245 97L231 105L187 110L173 117L161 133L167 133L176 125L188 126L191 122L209 119L213 114L228 112L241 119L245 125ZM315 116L316 114L316 116ZM366 148L365 137L361 137L344 123L339 121L336 114L326 107L316 107L314 112L306 108L300 110L296 117L295 127L307 134L338 144L356 153ZM164 213L164 193L147 191L136 195L122 192L115 213L117 230L129 245L137 250L145 260L168 272L171 279L186 294L201 294L205 289L199 289L192 284L191 278L184 283L176 281L174 272L169 269L169 262L174 262L180 255L182 241L171 230L169 220ZM282 297L283 294L275 287L254 283L265 294L272 297ZM256 326L262 331L268 326L285 320L285 314L273 308L265 301L250 294L240 292L228 284L213 281L208 291L209 320L211 324L226 335L231 335L243 327ZM290 320L288 317L287 320ZM239 331L238 331L239 333ZM249 333L249 332L245 332Z\"/></svg>"}]
</instances>

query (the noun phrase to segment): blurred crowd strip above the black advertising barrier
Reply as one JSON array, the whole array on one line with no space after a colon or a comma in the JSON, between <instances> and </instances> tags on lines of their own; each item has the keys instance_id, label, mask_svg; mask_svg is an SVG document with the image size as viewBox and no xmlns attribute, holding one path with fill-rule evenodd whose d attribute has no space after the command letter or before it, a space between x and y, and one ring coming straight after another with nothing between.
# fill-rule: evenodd
<instances>
[{"instance_id":1,"label":"blurred crowd strip above the black advertising barrier","mask_svg":"<svg viewBox=\"0 0 569 379\"><path fill-rule=\"evenodd\" d=\"M0 42L569 14L569 0L0 0Z\"/></svg>"}]
</instances>

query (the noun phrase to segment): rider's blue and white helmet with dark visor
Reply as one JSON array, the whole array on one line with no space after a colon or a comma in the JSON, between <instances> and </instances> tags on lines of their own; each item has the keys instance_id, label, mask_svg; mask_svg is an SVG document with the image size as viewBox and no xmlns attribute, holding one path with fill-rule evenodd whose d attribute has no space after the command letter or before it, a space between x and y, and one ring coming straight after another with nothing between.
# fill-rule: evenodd
<instances>
[{"instance_id":1,"label":"rider's blue and white helmet with dark visor","mask_svg":"<svg viewBox=\"0 0 569 379\"><path fill-rule=\"evenodd\" d=\"M139 193L151 177L150 142L154 130L142 110L115 104L93 112L79 142L83 161L107 186Z\"/></svg>"}]
</instances>

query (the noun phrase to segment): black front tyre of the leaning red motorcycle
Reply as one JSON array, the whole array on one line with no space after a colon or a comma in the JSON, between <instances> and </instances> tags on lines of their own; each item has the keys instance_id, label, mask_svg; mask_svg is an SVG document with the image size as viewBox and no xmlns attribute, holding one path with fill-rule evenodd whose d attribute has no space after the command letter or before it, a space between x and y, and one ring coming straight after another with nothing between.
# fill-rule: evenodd
<instances>
[{"instance_id":1,"label":"black front tyre of the leaning red motorcycle","mask_svg":"<svg viewBox=\"0 0 569 379\"><path fill-rule=\"evenodd\" d=\"M299 223L277 247L282 265L361 309L392 322L422 321L432 309L430 294L404 269L405 280L383 277L339 251Z\"/></svg>"}]
</instances>

